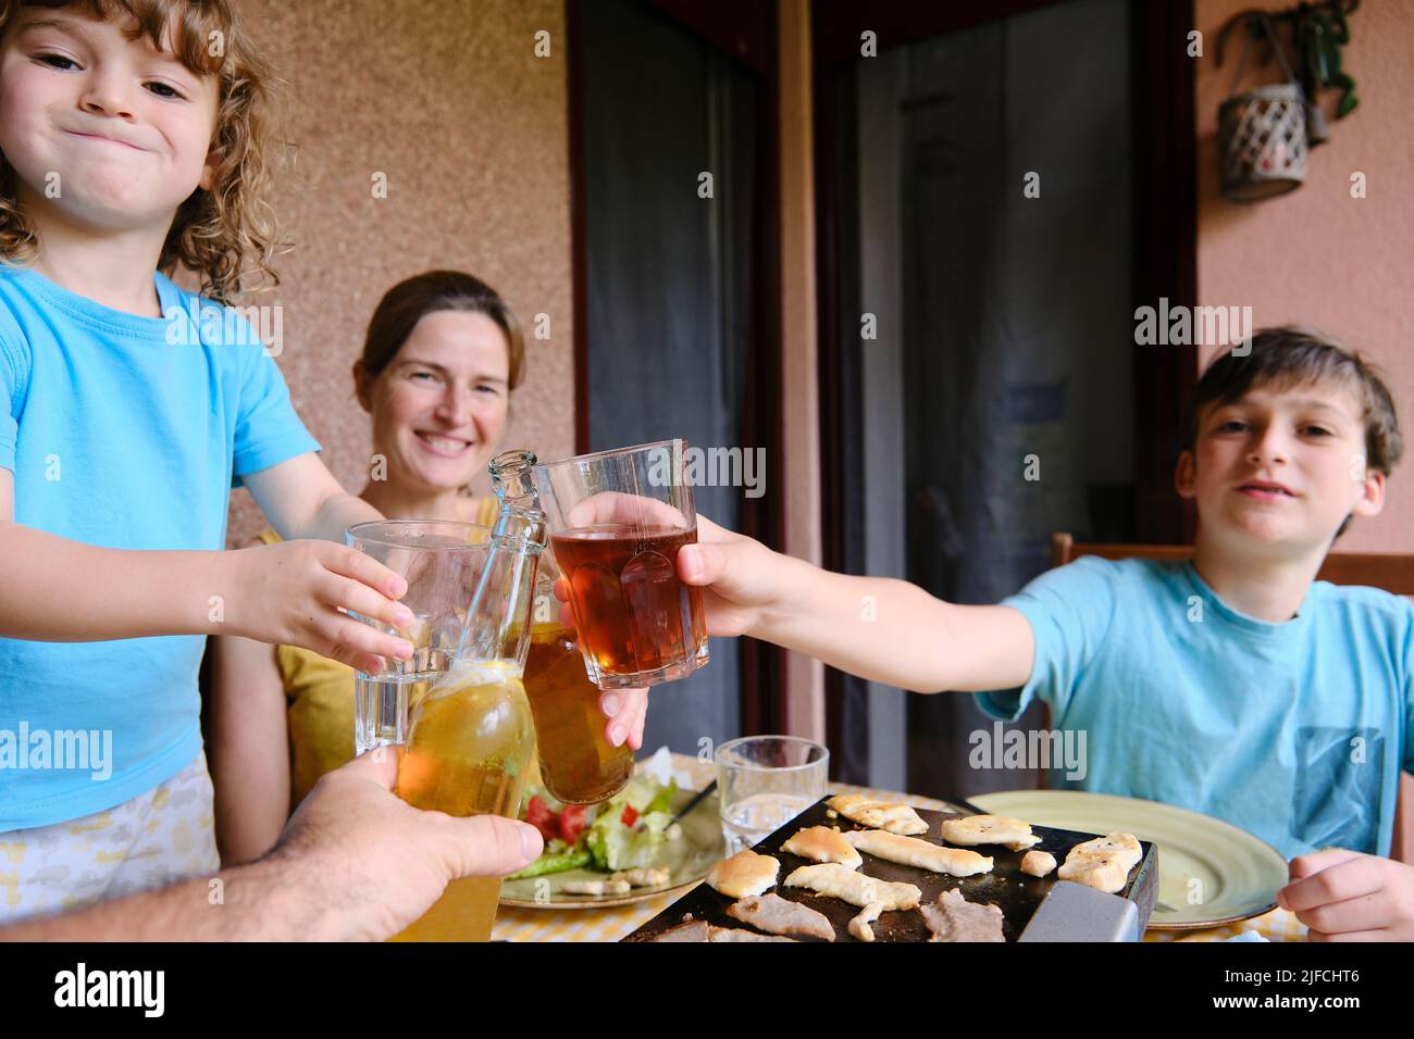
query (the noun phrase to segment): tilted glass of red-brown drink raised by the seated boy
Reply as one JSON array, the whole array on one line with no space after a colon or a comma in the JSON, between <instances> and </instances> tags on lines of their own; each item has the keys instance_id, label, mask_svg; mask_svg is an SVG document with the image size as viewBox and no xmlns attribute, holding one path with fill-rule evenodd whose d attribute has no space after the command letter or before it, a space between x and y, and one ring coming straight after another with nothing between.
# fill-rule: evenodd
<instances>
[{"instance_id":1,"label":"tilted glass of red-brown drink raised by the seated boy","mask_svg":"<svg viewBox=\"0 0 1414 1039\"><path fill-rule=\"evenodd\" d=\"M697 540L687 442L600 451L534 468L580 650L600 688L684 679L707 663L701 589L677 577Z\"/></svg>"}]
</instances>

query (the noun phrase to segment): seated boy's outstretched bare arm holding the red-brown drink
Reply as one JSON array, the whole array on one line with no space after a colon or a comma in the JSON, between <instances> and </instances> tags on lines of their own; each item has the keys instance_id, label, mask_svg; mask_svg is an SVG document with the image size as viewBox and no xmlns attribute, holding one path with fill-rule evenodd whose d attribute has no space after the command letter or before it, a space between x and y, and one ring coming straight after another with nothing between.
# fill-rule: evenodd
<instances>
[{"instance_id":1,"label":"seated boy's outstretched bare arm holding the red-brown drink","mask_svg":"<svg viewBox=\"0 0 1414 1039\"><path fill-rule=\"evenodd\" d=\"M916 693L1024 686L1035 639L1010 606L960 606L894 578L831 574L697 517L677 554L710 635L751 635Z\"/></svg>"}]
</instances>

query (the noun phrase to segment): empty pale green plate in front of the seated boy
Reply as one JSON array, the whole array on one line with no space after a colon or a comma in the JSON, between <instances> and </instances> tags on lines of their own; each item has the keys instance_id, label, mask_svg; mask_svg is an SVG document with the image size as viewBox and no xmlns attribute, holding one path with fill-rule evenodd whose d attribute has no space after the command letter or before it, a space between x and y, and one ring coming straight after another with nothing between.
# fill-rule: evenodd
<instances>
[{"instance_id":1,"label":"empty pale green plate in front of the seated boy","mask_svg":"<svg viewBox=\"0 0 1414 1039\"><path fill-rule=\"evenodd\" d=\"M1038 826L1154 841L1158 903L1150 927L1191 930L1260 916L1275 909L1287 884L1287 861L1270 844L1186 809L1083 790L1005 790L971 803Z\"/></svg>"}]
</instances>

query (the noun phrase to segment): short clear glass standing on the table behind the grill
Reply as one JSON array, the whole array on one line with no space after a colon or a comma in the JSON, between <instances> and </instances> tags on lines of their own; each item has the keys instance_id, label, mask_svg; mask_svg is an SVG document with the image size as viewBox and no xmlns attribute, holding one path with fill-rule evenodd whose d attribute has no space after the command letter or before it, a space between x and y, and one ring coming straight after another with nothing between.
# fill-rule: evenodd
<instances>
[{"instance_id":1,"label":"short clear glass standing on the table behind the grill","mask_svg":"<svg viewBox=\"0 0 1414 1039\"><path fill-rule=\"evenodd\" d=\"M727 854L771 835L824 797L830 752L800 736L742 736L717 748Z\"/></svg>"}]
</instances>

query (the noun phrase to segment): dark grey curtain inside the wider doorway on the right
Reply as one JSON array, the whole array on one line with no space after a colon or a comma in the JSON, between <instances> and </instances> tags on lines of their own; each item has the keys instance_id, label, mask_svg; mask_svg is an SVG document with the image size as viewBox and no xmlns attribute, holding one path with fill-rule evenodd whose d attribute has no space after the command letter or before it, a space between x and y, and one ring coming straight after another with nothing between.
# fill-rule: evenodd
<instances>
[{"instance_id":1,"label":"dark grey curtain inside the wider doorway on the right","mask_svg":"<svg viewBox=\"0 0 1414 1039\"><path fill-rule=\"evenodd\" d=\"M857 62L860 177L884 147L898 167L896 201L861 199L860 222L895 229L902 281L901 519L868 537L904 539L906 577L952 602L1018 591L1056 530L1133 534L1128 17L1072 0ZM865 310L895 260L863 256ZM1035 785L970 766L993 725L970 695L905 711L909 790Z\"/></svg>"}]
</instances>

